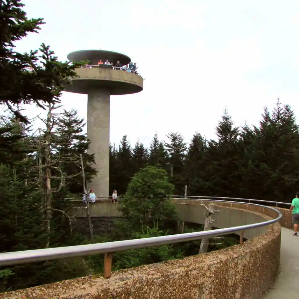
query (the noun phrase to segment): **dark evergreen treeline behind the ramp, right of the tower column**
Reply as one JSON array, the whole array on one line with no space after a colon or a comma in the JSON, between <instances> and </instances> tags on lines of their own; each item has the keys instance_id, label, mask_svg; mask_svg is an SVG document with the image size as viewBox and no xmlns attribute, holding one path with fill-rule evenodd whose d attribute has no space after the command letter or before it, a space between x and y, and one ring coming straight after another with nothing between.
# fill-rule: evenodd
<instances>
[{"instance_id":1,"label":"dark evergreen treeline behind the ramp, right of the tower column","mask_svg":"<svg viewBox=\"0 0 299 299\"><path fill-rule=\"evenodd\" d=\"M165 169L174 194L223 196L289 202L298 188L299 133L295 114L278 99L265 108L257 126L239 128L228 111L216 126L216 140L200 132L187 144L170 132L155 134L149 149L141 141L131 147L126 135L110 147L110 193L126 191L133 174L145 165ZM299 166L299 165L298 165Z\"/></svg>"}]
</instances>

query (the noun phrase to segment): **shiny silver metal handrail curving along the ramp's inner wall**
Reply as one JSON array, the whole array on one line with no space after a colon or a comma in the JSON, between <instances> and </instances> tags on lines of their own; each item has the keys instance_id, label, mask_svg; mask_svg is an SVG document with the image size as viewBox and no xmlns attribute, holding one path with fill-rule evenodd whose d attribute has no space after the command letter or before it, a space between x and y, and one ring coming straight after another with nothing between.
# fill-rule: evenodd
<instances>
[{"instance_id":1,"label":"shiny silver metal handrail curving along the ramp's inner wall","mask_svg":"<svg viewBox=\"0 0 299 299\"><path fill-rule=\"evenodd\" d=\"M197 196L197 197L201 197L201 196ZM213 199L216 201L217 197L213 197ZM219 199L223 201L222 197L218 197L218 201ZM194 200L210 201L211 199L194 199ZM248 201L248 199L245 200ZM23 263L32 263L32 262L39 262L45 260L55 260L55 259L86 256L86 255L93 255L93 254L105 254L103 276L105 278L108 278L111 277L112 256L113 253L116 251L124 251L129 249L193 241L202 238L209 238L209 237L231 234L239 231L241 232L240 244L242 244L243 233L245 230L261 227L264 225L271 225L271 224L273 229L274 223L279 221L280 218L282 217L281 212L272 207L252 204L248 202L236 202L236 201L228 201L228 200L225 200L225 202L242 203L247 205L260 206L263 208L267 208L269 210L274 210L277 213L277 217L275 219L267 220L264 222L247 224L247 225L239 225L230 228L220 228L220 229L215 229L210 231L199 231L194 233L176 234L176 235L168 235L168 236L161 236L161 237L151 237L151 238L133 239L133 240L124 240L124 241L115 241L115 242L106 242L106 243L97 243L97 244L88 244L88 245L76 245L76 246L67 246L67 247L44 248L44 249L1 253L0 266L11 266L11 265L17 265Z\"/></svg>"}]
</instances>

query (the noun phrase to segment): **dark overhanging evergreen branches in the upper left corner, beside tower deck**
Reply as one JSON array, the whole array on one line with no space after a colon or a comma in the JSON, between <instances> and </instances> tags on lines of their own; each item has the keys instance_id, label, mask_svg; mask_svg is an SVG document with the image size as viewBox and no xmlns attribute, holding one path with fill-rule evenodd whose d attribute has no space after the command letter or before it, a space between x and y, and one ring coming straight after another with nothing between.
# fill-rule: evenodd
<instances>
[{"instance_id":1,"label":"dark overhanging evergreen branches in the upper left corner, beside tower deck","mask_svg":"<svg viewBox=\"0 0 299 299\"><path fill-rule=\"evenodd\" d=\"M21 121L26 121L14 105L26 103L43 107L43 103L60 101L63 86L69 77L76 77L78 66L60 62L49 46L21 54L14 51L15 43L38 33L43 19L28 19L20 0L0 1L0 103L5 104ZM30 70L28 70L30 68Z\"/></svg>"}]
</instances>

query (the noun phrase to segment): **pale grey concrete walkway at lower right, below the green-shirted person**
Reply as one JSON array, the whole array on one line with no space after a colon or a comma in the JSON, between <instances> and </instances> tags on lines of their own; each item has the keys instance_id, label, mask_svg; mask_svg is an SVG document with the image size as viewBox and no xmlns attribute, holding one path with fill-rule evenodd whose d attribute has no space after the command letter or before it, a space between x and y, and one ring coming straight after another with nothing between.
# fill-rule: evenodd
<instances>
[{"instance_id":1,"label":"pale grey concrete walkway at lower right, below the green-shirted person","mask_svg":"<svg viewBox=\"0 0 299 299\"><path fill-rule=\"evenodd\" d=\"M293 231L281 228L280 273L273 289L263 299L299 298L299 236Z\"/></svg>"}]
</instances>

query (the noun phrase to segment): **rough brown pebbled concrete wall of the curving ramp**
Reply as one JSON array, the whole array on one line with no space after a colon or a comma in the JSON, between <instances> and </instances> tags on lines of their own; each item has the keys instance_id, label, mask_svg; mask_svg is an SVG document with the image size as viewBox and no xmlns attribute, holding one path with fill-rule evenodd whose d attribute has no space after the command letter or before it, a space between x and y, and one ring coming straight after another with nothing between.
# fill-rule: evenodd
<instances>
[{"instance_id":1,"label":"rough brown pebbled concrete wall of the curving ramp","mask_svg":"<svg viewBox=\"0 0 299 299\"><path fill-rule=\"evenodd\" d=\"M219 210L221 209L217 215L217 227L221 227L221 223L221 225L237 226L256 220L265 221L277 216L274 211L271 212L262 207L225 202L215 203L219 206ZM196 212L202 209L199 201L175 200L175 204L180 205L181 218L188 217L185 221L193 219L202 223L202 220L197 219L200 217L199 212ZM106 204L106 206L103 208L102 204L102 210L114 209L113 205ZM94 212L96 207L94 205L92 208ZM81 212L77 210L77 216L80 217L79 213L84 216L82 210ZM288 215L290 214L285 211L284 223L288 223ZM224 222L222 218L231 220L227 219ZM10 292L5 294L5 298L22 298L22 295L25 296L24 298L44 299L261 298L278 272L281 227L276 223L261 231L251 231L249 234L251 237L254 235L256 237L242 245L208 254L113 272L109 279L103 279L101 276L82 277L48 286Z\"/></svg>"}]
</instances>

